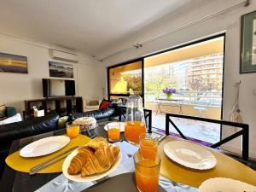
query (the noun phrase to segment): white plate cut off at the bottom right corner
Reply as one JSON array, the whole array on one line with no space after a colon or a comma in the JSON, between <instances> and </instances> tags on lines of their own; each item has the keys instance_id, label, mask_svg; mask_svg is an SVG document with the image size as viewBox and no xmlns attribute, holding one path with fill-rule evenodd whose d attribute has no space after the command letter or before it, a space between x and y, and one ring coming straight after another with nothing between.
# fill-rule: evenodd
<instances>
[{"instance_id":1,"label":"white plate cut off at the bottom right corner","mask_svg":"<svg viewBox=\"0 0 256 192\"><path fill-rule=\"evenodd\" d=\"M241 173L242 174L242 173ZM231 178L209 178L199 187L199 192L254 192L256 187Z\"/></svg>"}]
</instances>

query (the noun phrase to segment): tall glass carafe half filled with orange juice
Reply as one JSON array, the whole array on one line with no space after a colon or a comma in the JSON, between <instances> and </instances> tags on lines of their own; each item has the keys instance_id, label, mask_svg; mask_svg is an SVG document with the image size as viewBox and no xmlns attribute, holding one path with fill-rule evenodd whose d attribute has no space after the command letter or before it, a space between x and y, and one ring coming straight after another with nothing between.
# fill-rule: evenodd
<instances>
[{"instance_id":1,"label":"tall glass carafe half filled with orange juice","mask_svg":"<svg viewBox=\"0 0 256 192\"><path fill-rule=\"evenodd\" d=\"M129 143L138 144L139 137L146 132L143 99L132 94L126 102L125 138Z\"/></svg>"}]
</instances>

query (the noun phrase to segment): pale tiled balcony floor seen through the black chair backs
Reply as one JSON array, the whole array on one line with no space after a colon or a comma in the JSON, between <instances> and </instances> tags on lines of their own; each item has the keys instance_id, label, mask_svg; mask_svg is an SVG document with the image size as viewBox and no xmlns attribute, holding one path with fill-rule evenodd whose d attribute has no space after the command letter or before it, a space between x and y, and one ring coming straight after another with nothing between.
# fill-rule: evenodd
<instances>
[{"instance_id":1,"label":"pale tiled balcony floor seen through the black chair backs","mask_svg":"<svg viewBox=\"0 0 256 192\"><path fill-rule=\"evenodd\" d=\"M187 137L192 137L205 141L207 143L217 143L220 136L220 126L218 124L212 124L207 122L201 122L190 119L177 119L172 118L173 122L180 131ZM166 127L166 116L165 114L153 113L152 115L152 126L165 130ZM177 133L177 131L170 125L170 131Z\"/></svg>"}]
</instances>

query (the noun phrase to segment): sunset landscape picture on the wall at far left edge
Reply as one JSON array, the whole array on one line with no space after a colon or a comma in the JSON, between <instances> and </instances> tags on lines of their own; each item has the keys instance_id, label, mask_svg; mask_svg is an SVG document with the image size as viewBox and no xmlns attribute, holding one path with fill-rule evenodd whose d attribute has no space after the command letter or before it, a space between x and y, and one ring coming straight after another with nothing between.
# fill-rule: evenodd
<instances>
[{"instance_id":1,"label":"sunset landscape picture on the wall at far left edge","mask_svg":"<svg viewBox=\"0 0 256 192\"><path fill-rule=\"evenodd\" d=\"M0 53L0 72L28 73L26 56Z\"/></svg>"}]
</instances>

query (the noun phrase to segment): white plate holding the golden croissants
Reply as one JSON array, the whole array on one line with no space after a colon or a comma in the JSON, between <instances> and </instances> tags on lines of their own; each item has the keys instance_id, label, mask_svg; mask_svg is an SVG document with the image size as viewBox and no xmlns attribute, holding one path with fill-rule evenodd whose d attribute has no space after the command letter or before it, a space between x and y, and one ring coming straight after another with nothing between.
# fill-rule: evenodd
<instances>
[{"instance_id":1,"label":"white plate holding the golden croissants","mask_svg":"<svg viewBox=\"0 0 256 192\"><path fill-rule=\"evenodd\" d=\"M106 177L108 174L113 172L120 164L121 159L122 159L122 154L121 152L119 153L118 159L115 161L113 166L107 171L107 172L102 172L101 174L96 174L88 177L81 177L80 174L78 175L69 175L67 172L68 166L70 165L71 160L73 157L79 153L79 149L74 150L71 154L69 154L64 160L64 163L62 164L62 172L67 177L68 179L75 181L75 182L90 182L90 181L95 181L98 180L102 177Z\"/></svg>"}]
</instances>

